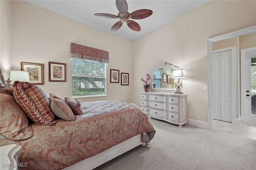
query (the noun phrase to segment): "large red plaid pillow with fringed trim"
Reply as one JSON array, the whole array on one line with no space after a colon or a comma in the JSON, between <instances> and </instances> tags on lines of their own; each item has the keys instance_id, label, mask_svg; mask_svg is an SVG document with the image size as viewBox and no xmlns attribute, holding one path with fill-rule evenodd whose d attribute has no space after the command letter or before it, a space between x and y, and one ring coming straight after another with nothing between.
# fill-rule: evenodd
<instances>
[{"instance_id":1,"label":"large red plaid pillow with fringed trim","mask_svg":"<svg viewBox=\"0 0 256 170\"><path fill-rule=\"evenodd\" d=\"M12 86L16 102L34 123L50 126L57 123L50 108L50 100L42 89L30 82L15 81Z\"/></svg>"}]
</instances>

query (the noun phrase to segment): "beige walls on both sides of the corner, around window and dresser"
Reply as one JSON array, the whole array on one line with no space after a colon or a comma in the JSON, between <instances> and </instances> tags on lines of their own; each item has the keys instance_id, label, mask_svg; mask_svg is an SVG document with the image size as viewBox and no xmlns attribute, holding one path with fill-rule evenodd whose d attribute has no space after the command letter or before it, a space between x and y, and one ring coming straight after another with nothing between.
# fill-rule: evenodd
<instances>
[{"instance_id":1,"label":"beige walls on both sides of the corner, around window and dresser","mask_svg":"<svg viewBox=\"0 0 256 170\"><path fill-rule=\"evenodd\" d=\"M7 57L12 61L11 69L20 69L21 61L43 63L45 83L39 86L46 94L72 95L69 49L73 42L109 51L107 93L111 100L139 105L139 92L144 91L140 78L146 78L146 73L151 73L162 62L186 69L189 78L182 80L182 92L188 94L188 118L205 122L207 91L203 91L203 86L207 86L206 40L256 25L256 1L211 1L130 42L26 2L12 1L12 5L12 23L8 21L8 25L12 26L12 50L8 51L10 56ZM1 66L2 61L1 55ZM67 82L48 81L49 61L67 64ZM130 85L110 83L110 68L128 72Z\"/></svg>"}]
</instances>

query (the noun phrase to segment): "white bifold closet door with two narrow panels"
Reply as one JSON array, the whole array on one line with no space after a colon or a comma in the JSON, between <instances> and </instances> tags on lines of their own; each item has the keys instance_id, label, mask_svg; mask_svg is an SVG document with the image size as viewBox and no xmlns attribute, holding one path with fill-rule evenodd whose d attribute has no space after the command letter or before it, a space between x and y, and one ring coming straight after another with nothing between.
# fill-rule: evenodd
<instances>
[{"instance_id":1,"label":"white bifold closet door with two narrow panels","mask_svg":"<svg viewBox=\"0 0 256 170\"><path fill-rule=\"evenodd\" d=\"M232 51L212 54L213 119L232 122Z\"/></svg>"}]
</instances>

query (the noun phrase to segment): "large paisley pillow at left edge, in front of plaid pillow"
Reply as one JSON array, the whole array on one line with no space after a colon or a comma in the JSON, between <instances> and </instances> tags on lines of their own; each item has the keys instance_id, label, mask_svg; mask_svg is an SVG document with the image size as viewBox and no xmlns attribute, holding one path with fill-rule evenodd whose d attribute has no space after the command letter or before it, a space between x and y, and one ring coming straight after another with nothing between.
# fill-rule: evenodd
<instances>
[{"instance_id":1,"label":"large paisley pillow at left edge, in front of plaid pillow","mask_svg":"<svg viewBox=\"0 0 256 170\"><path fill-rule=\"evenodd\" d=\"M12 141L31 138L34 133L28 125L28 117L14 97L0 93L0 134Z\"/></svg>"}]
</instances>

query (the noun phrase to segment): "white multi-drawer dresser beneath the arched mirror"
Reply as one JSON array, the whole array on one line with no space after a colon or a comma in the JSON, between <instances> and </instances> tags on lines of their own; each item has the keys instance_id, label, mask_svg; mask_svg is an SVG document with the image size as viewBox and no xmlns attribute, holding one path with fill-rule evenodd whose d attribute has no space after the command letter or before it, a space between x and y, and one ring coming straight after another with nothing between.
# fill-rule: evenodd
<instances>
[{"instance_id":1,"label":"white multi-drawer dresser beneath the arched mirror","mask_svg":"<svg viewBox=\"0 0 256 170\"><path fill-rule=\"evenodd\" d=\"M151 117L179 125L188 123L187 94L140 92L140 109L146 113L149 105Z\"/></svg>"}]
</instances>

